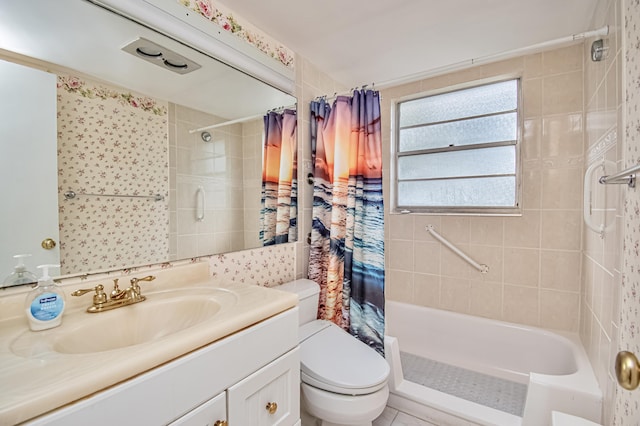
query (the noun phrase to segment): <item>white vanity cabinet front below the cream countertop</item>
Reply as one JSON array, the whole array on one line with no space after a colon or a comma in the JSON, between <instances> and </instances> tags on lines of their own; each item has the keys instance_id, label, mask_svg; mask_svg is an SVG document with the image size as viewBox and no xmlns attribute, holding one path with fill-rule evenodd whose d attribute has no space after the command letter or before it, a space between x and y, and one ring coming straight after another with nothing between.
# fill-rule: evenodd
<instances>
[{"instance_id":1,"label":"white vanity cabinet front below the cream countertop","mask_svg":"<svg viewBox=\"0 0 640 426\"><path fill-rule=\"evenodd\" d=\"M293 308L27 424L294 426L299 363Z\"/></svg>"}]
</instances>

